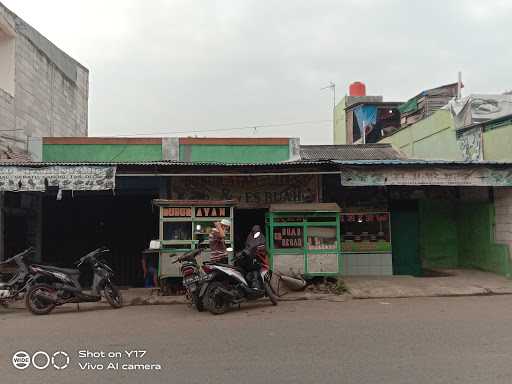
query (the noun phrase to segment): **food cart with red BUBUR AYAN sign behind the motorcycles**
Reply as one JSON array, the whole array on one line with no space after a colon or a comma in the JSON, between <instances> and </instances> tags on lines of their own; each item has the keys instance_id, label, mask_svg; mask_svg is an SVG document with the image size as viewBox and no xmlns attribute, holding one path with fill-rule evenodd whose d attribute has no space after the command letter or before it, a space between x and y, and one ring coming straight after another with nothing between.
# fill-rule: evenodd
<instances>
[{"instance_id":1,"label":"food cart with red BUBUR AYAN sign behind the motorcycles","mask_svg":"<svg viewBox=\"0 0 512 384\"><path fill-rule=\"evenodd\" d=\"M233 223L232 200L153 200L159 207L160 256L158 277L162 282L169 278L181 277L178 264L172 263L172 255L181 255L192 249L203 248L197 260L209 260L209 235L215 222L230 219ZM232 247L233 225L226 233L226 247Z\"/></svg>"}]
</instances>

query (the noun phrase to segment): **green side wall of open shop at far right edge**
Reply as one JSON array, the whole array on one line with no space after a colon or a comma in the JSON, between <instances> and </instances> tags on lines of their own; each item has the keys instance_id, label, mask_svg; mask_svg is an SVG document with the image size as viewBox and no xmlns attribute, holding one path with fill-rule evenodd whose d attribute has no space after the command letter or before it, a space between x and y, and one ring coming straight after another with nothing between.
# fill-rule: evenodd
<instances>
[{"instance_id":1,"label":"green side wall of open shop at far right edge","mask_svg":"<svg viewBox=\"0 0 512 384\"><path fill-rule=\"evenodd\" d=\"M466 203L458 207L459 266L511 277L508 246L494 242L494 220L490 203Z\"/></svg>"}]
</instances>

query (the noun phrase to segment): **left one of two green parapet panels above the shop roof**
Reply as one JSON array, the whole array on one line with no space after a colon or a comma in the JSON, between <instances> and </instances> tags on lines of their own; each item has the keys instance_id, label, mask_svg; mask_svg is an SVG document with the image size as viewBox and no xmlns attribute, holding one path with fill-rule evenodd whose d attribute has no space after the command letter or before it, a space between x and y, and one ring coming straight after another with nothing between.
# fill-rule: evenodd
<instances>
[{"instance_id":1,"label":"left one of two green parapet panels above the shop roof","mask_svg":"<svg viewBox=\"0 0 512 384\"><path fill-rule=\"evenodd\" d=\"M160 144L44 144L43 161L158 161Z\"/></svg>"}]
</instances>

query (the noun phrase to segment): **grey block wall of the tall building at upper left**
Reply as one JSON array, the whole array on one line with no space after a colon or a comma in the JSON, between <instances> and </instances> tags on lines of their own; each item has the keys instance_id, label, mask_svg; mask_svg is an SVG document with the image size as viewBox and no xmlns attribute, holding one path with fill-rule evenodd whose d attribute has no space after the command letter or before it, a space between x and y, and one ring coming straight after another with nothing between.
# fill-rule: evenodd
<instances>
[{"instance_id":1,"label":"grey block wall of the tall building at upper left","mask_svg":"<svg viewBox=\"0 0 512 384\"><path fill-rule=\"evenodd\" d=\"M2 141L26 149L28 137L87 136L88 70L1 3L0 17L16 31L14 95L0 89Z\"/></svg>"}]
</instances>

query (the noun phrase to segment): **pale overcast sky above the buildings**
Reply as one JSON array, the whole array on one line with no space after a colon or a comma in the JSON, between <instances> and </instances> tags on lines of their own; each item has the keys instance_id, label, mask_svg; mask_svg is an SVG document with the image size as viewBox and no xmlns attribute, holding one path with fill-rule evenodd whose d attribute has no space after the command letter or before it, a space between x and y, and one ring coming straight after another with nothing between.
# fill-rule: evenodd
<instances>
[{"instance_id":1,"label":"pale overcast sky above the buildings","mask_svg":"<svg viewBox=\"0 0 512 384\"><path fill-rule=\"evenodd\" d=\"M512 89L509 0L1 1L89 69L90 136L331 144L330 81Z\"/></svg>"}]
</instances>

